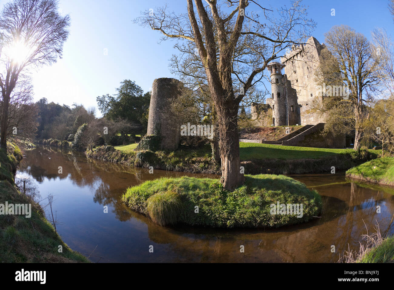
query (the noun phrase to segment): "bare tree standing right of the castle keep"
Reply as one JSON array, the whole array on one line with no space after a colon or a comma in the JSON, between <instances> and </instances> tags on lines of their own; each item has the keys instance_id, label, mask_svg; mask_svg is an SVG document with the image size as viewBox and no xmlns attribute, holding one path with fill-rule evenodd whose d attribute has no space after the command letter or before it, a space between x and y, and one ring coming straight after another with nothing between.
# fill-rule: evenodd
<instances>
[{"instance_id":1,"label":"bare tree standing right of the castle keep","mask_svg":"<svg viewBox=\"0 0 394 290\"><path fill-rule=\"evenodd\" d=\"M349 87L348 96L326 99L331 110L331 121L355 131L354 149L361 147L364 124L368 113L366 105L373 101L377 91L379 62L368 39L349 26L333 26L325 34L325 43L332 56L325 58L320 69L321 77L333 85Z\"/></svg>"}]
</instances>

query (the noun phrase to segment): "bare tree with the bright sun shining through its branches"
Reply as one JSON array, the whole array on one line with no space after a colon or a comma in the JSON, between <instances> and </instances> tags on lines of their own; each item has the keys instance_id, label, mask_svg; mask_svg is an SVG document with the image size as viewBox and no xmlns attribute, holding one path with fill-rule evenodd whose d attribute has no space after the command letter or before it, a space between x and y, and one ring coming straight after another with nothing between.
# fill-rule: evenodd
<instances>
[{"instance_id":1,"label":"bare tree with the bright sun shining through its branches","mask_svg":"<svg viewBox=\"0 0 394 290\"><path fill-rule=\"evenodd\" d=\"M2 113L0 146L7 148L11 94L29 68L61 57L67 40L69 15L58 13L57 0L14 0L0 15L0 88Z\"/></svg>"}]
</instances>

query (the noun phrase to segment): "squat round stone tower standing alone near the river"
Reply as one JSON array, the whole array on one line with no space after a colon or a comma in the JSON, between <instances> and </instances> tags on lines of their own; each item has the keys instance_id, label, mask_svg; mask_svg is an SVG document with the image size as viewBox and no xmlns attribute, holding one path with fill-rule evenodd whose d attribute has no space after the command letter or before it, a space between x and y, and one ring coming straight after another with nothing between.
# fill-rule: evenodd
<instances>
[{"instance_id":1,"label":"squat round stone tower standing alone near the river","mask_svg":"<svg viewBox=\"0 0 394 290\"><path fill-rule=\"evenodd\" d=\"M183 84L177 79L155 79L152 84L147 135L160 132L161 148L175 150L180 140L180 123L168 114L170 104L183 92Z\"/></svg>"}]
</instances>

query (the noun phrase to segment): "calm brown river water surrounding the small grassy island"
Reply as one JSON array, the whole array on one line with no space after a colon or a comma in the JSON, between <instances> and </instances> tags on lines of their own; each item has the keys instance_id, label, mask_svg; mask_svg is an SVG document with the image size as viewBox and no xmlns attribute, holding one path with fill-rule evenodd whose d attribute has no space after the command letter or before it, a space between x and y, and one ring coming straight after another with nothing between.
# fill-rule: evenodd
<instances>
[{"instance_id":1,"label":"calm brown river water surrounding the small grassy island","mask_svg":"<svg viewBox=\"0 0 394 290\"><path fill-rule=\"evenodd\" d=\"M362 234L373 233L374 225L382 236L394 234L394 188L351 182L344 174L291 176L323 198L321 217L309 223L266 230L162 227L120 200L127 187L160 176L218 178L164 170L149 174L50 146L26 151L17 172L17 178L30 178L28 190L41 194L36 197L41 205L54 195L59 234L92 262L336 262L348 247L357 250Z\"/></svg>"}]
</instances>

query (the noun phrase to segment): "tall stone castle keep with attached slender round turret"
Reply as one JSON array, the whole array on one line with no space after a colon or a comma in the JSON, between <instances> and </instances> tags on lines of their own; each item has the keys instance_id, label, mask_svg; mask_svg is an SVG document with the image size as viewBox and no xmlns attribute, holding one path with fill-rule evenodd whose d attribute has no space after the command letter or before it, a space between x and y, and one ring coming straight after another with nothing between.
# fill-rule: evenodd
<instances>
[{"instance_id":1,"label":"tall stone castle keep with attached slender round turret","mask_svg":"<svg viewBox=\"0 0 394 290\"><path fill-rule=\"evenodd\" d=\"M312 108L312 103L322 102L314 79L324 48L324 44L310 37L305 45L294 47L286 53L281 58L281 63L271 62L267 65L271 72L272 94L266 103L272 109L274 126L314 125L324 122L324 116ZM259 114L262 114L261 106L254 104L251 112L252 118L257 119Z\"/></svg>"}]
</instances>

